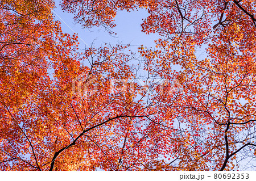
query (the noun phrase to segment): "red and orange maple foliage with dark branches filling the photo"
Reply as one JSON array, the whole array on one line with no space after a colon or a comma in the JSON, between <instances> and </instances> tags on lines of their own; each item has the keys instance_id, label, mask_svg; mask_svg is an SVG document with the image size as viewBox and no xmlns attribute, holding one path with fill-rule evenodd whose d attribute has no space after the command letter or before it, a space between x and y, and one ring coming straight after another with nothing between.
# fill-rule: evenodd
<instances>
[{"instance_id":1,"label":"red and orange maple foliage with dark branches filling the photo","mask_svg":"<svg viewBox=\"0 0 256 181\"><path fill-rule=\"evenodd\" d=\"M60 4L110 33L118 11L146 9L142 31L161 38L140 56L129 45L80 52L55 2L1 1L1 170L253 169L254 1Z\"/></svg>"}]
</instances>

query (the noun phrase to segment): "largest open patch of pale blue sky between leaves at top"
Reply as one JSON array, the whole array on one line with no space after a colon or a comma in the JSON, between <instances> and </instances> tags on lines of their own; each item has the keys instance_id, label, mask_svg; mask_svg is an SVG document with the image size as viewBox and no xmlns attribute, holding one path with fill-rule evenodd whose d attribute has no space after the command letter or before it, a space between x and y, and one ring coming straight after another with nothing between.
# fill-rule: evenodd
<instances>
[{"instance_id":1,"label":"largest open patch of pale blue sky between leaves at top","mask_svg":"<svg viewBox=\"0 0 256 181\"><path fill-rule=\"evenodd\" d=\"M147 47L154 47L154 40L159 39L156 33L146 35L146 33L141 31L142 19L147 18L148 15L146 10L118 11L115 16L115 24L117 26L112 29L117 33L117 37L109 35L103 27L82 29L80 24L74 22L73 14L61 10L58 1L56 1L54 12L56 13L55 19L61 22L61 28L64 33L73 34L75 32L79 35L80 49L84 49L85 43L88 45L94 43L95 47L100 47L102 43L110 43L112 45L121 43L137 46L143 44ZM137 49L137 46L133 47L134 50Z\"/></svg>"}]
</instances>

